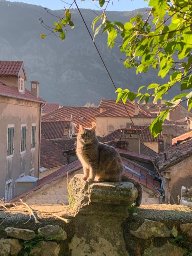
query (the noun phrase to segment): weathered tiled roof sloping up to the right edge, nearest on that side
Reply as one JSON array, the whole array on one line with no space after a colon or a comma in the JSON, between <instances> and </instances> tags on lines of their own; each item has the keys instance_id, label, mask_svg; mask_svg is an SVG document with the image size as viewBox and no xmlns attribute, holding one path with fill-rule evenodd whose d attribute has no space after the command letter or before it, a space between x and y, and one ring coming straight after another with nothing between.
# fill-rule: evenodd
<instances>
[{"instance_id":1,"label":"weathered tiled roof sloping up to the right edge, nearest on that side","mask_svg":"<svg viewBox=\"0 0 192 256\"><path fill-rule=\"evenodd\" d=\"M159 170L165 170L192 155L192 139L167 148L156 156Z\"/></svg>"}]
</instances>

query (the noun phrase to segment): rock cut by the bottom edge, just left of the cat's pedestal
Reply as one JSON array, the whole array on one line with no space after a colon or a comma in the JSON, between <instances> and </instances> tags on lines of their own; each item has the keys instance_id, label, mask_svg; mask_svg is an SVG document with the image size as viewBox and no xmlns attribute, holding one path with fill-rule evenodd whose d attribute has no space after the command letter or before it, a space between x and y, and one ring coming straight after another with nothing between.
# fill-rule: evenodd
<instances>
[{"instance_id":1,"label":"rock cut by the bottom edge, just left of the cat's pedestal","mask_svg":"<svg viewBox=\"0 0 192 256\"><path fill-rule=\"evenodd\" d=\"M30 256L58 256L60 245L56 242L38 242L37 246L30 251Z\"/></svg>"}]
</instances>

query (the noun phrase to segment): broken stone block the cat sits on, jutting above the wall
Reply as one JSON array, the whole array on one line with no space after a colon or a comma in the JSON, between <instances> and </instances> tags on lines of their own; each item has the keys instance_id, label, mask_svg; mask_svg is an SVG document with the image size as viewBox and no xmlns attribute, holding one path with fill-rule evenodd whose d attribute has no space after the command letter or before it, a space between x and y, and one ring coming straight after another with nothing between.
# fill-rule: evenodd
<instances>
[{"instance_id":1,"label":"broken stone block the cat sits on, jutting above the wall","mask_svg":"<svg viewBox=\"0 0 192 256\"><path fill-rule=\"evenodd\" d=\"M85 206L91 203L97 205L106 205L110 212L110 205L130 206L136 197L138 191L130 182L87 182L82 180L82 174L77 174L70 181L72 195L74 196L75 205L74 211L77 214L79 211L85 210ZM94 207L97 210L97 207ZM90 210L90 208L89 208ZM119 210L119 213L121 209ZM118 213L118 214L119 214ZM119 216L119 215L118 215Z\"/></svg>"}]
</instances>

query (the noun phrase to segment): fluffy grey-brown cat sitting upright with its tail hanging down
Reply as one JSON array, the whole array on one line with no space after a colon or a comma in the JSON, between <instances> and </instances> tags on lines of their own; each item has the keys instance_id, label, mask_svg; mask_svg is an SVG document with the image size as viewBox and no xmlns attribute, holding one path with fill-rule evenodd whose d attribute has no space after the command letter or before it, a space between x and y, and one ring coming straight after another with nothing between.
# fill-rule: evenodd
<instances>
[{"instance_id":1,"label":"fluffy grey-brown cat sitting upright with its tail hanging down","mask_svg":"<svg viewBox=\"0 0 192 256\"><path fill-rule=\"evenodd\" d=\"M140 206L142 186L123 175L124 166L119 153L113 147L98 142L95 130L96 126L90 129L79 126L76 154L83 166L83 180L92 182L97 178L100 182L132 182L138 190L136 206Z\"/></svg>"}]
</instances>

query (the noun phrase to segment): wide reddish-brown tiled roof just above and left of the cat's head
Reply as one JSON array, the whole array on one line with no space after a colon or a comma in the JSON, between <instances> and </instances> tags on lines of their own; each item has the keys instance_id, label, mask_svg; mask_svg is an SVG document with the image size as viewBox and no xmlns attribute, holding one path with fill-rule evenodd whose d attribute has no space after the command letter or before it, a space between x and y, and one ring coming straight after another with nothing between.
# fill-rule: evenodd
<instances>
[{"instance_id":1,"label":"wide reddish-brown tiled roof just above and left of the cat's head","mask_svg":"<svg viewBox=\"0 0 192 256\"><path fill-rule=\"evenodd\" d=\"M66 119L70 120L72 115L72 122L77 124L76 132L78 132L78 126L80 124L86 128L92 127L93 122L96 122L95 116L98 113L99 108L63 106L42 116L42 122L65 121Z\"/></svg>"}]
</instances>

